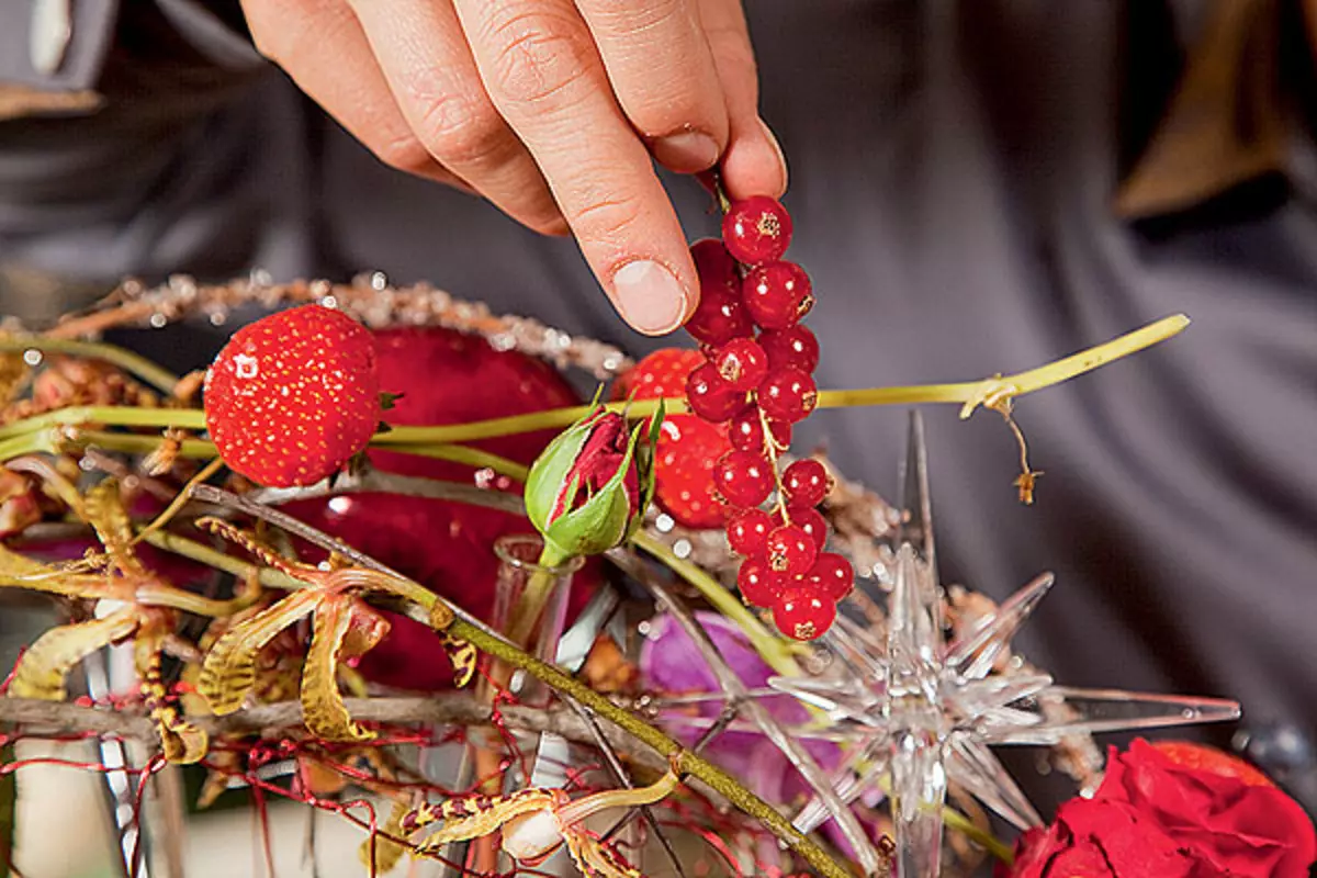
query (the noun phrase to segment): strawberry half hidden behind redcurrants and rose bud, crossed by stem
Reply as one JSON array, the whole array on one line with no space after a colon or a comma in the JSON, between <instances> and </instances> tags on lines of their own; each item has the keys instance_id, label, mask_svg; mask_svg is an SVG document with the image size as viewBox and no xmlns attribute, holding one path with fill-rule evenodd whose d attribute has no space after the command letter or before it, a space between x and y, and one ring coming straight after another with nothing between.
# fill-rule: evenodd
<instances>
[{"instance_id":1,"label":"strawberry half hidden behind redcurrants and rose bud, crossed by stem","mask_svg":"<svg viewBox=\"0 0 1317 878\"><path fill-rule=\"evenodd\" d=\"M685 396L686 376L705 365L698 350L656 350L623 375L616 396ZM714 494L714 463L731 450L727 428L697 415L669 415L655 454L655 503L687 528L719 528L727 512Z\"/></svg>"}]
</instances>

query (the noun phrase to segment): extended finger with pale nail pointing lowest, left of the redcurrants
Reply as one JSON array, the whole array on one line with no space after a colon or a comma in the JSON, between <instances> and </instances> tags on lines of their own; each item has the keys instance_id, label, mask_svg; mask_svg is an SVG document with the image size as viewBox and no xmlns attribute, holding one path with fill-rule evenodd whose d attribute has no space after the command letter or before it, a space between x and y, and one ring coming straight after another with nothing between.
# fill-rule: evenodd
<instances>
[{"instance_id":1,"label":"extended finger with pale nail pointing lowest, left of the redcurrants","mask_svg":"<svg viewBox=\"0 0 1317 878\"><path fill-rule=\"evenodd\" d=\"M635 329L698 301L686 238L570 0L457 0L490 100L531 150L581 253Z\"/></svg>"}]
</instances>

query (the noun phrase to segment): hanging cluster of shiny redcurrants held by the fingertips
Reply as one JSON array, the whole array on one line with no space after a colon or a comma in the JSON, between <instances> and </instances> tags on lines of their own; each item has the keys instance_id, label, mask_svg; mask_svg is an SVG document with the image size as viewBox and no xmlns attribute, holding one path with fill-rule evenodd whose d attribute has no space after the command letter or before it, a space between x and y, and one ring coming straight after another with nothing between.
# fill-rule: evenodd
<instances>
[{"instance_id":1,"label":"hanging cluster of shiny redcurrants held by the fingertips","mask_svg":"<svg viewBox=\"0 0 1317 878\"><path fill-rule=\"evenodd\" d=\"M691 247L701 300L686 329L706 362L686 380L686 399L702 419L727 424L732 450L714 466L714 487L734 509L727 537L745 558L741 598L772 608L782 633L813 640L836 619L855 571L823 552L827 523L815 507L828 492L827 470L813 459L777 466L792 425L818 403L819 345L799 324L814 295L803 269L782 259L790 241L786 209L757 196L728 207L722 241ZM772 511L761 508L774 491Z\"/></svg>"}]
</instances>

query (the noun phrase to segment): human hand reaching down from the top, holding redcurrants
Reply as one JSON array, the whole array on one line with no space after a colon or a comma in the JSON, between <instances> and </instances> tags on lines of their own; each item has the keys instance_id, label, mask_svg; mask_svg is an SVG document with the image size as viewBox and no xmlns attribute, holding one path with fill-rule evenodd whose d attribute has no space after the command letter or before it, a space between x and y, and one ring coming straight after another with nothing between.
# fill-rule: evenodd
<instances>
[{"instance_id":1,"label":"human hand reaching down from the top, holding redcurrants","mask_svg":"<svg viewBox=\"0 0 1317 878\"><path fill-rule=\"evenodd\" d=\"M699 301L651 157L780 195L740 0L242 0L257 47L392 167L576 236L633 328Z\"/></svg>"}]
</instances>

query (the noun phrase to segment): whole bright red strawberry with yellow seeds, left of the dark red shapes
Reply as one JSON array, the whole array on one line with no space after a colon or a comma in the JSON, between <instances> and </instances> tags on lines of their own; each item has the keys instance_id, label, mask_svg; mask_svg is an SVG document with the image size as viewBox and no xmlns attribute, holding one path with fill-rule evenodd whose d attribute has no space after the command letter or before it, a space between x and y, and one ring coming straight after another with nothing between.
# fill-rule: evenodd
<instances>
[{"instance_id":1,"label":"whole bright red strawberry with yellow seeds, left of the dark red shapes","mask_svg":"<svg viewBox=\"0 0 1317 878\"><path fill-rule=\"evenodd\" d=\"M211 440L229 467L259 484L333 474L370 441L379 412L370 332L323 305L244 326L205 374Z\"/></svg>"}]
</instances>

